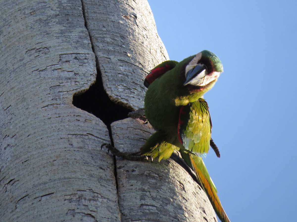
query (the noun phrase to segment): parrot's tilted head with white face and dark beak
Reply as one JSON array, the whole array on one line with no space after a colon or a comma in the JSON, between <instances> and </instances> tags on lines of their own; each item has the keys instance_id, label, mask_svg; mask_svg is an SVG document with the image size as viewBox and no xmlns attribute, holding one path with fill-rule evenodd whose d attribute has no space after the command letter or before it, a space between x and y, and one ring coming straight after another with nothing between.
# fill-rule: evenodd
<instances>
[{"instance_id":1,"label":"parrot's tilted head with white face and dark beak","mask_svg":"<svg viewBox=\"0 0 297 222\"><path fill-rule=\"evenodd\" d=\"M196 54L184 69L184 86L194 86L208 91L223 72L223 65L214 53L203 50Z\"/></svg>"}]
</instances>

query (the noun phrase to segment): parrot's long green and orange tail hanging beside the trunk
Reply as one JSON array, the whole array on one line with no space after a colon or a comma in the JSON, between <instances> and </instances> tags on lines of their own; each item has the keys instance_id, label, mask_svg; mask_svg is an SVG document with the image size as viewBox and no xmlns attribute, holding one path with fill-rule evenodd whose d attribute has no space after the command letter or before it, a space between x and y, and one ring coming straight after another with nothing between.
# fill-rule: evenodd
<instances>
[{"instance_id":1,"label":"parrot's long green and orange tail hanging beside the trunk","mask_svg":"<svg viewBox=\"0 0 297 222\"><path fill-rule=\"evenodd\" d=\"M230 222L225 210L222 207L222 204L217 195L217 189L209 176L209 173L206 169L206 166L203 163L202 158L191 153L181 153L185 162L190 166L190 168L192 168L192 170L195 171L198 180L200 181L201 186L203 186L203 189L207 194L208 199L210 200L211 205L213 206L214 211L216 212L219 219L222 222Z\"/></svg>"}]
</instances>

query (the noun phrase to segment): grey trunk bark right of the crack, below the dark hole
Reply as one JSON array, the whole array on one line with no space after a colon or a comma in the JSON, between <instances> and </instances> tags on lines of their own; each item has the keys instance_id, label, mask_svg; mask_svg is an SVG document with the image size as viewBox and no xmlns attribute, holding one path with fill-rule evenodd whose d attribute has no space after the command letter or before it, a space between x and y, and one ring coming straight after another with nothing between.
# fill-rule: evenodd
<instances>
[{"instance_id":1,"label":"grey trunk bark right of the crack, below the dark hole","mask_svg":"<svg viewBox=\"0 0 297 222\"><path fill-rule=\"evenodd\" d=\"M114 122L111 129L115 147L128 152L138 151L154 132L131 118ZM117 158L116 169L122 221L217 221L203 189L173 160Z\"/></svg>"}]
</instances>

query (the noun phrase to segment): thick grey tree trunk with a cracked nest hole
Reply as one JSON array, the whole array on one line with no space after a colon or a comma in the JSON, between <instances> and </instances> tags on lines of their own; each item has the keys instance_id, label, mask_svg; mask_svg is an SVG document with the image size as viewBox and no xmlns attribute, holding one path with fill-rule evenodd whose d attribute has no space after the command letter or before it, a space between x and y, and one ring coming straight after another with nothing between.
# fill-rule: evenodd
<instances>
[{"instance_id":1,"label":"thick grey tree trunk with a cracked nest hole","mask_svg":"<svg viewBox=\"0 0 297 222\"><path fill-rule=\"evenodd\" d=\"M216 221L174 161L100 149L138 150L153 132L126 119L143 107L148 70L168 59L148 3L0 2L1 221Z\"/></svg>"}]
</instances>

